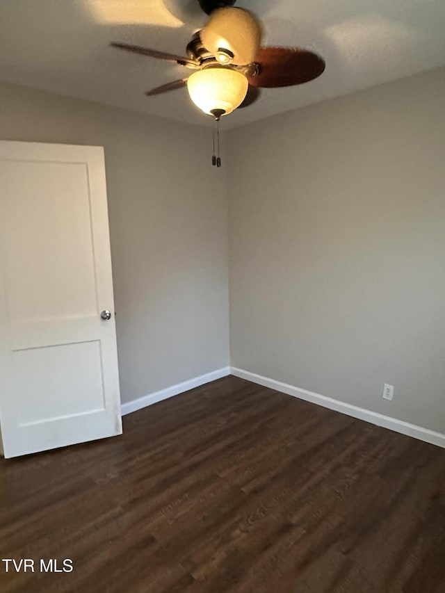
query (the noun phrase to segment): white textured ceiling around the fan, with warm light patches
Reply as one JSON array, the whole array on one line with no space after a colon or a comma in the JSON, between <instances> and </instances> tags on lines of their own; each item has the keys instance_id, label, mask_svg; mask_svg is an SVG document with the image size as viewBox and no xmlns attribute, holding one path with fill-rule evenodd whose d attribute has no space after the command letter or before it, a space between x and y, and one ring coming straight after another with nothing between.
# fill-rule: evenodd
<instances>
[{"instance_id":1,"label":"white textured ceiling around the fan, with warm light patches","mask_svg":"<svg viewBox=\"0 0 445 593\"><path fill-rule=\"evenodd\" d=\"M207 17L197 0L0 0L0 79L195 124L210 120L186 89L144 92L182 78L174 63L111 41L185 54ZM225 128L445 65L445 0L238 0L264 22L264 44L298 45L327 63L320 79L264 90ZM1 97L0 97L1 101Z\"/></svg>"}]
</instances>

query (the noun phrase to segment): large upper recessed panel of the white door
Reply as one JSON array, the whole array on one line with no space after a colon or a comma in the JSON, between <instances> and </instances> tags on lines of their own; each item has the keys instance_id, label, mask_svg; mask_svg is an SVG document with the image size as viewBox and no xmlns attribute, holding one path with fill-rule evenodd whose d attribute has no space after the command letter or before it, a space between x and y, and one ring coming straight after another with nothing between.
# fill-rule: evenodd
<instances>
[{"instance_id":1,"label":"large upper recessed panel of the white door","mask_svg":"<svg viewBox=\"0 0 445 593\"><path fill-rule=\"evenodd\" d=\"M0 174L11 322L94 315L97 295L88 168L82 163L24 166L3 161Z\"/></svg>"}]
</instances>

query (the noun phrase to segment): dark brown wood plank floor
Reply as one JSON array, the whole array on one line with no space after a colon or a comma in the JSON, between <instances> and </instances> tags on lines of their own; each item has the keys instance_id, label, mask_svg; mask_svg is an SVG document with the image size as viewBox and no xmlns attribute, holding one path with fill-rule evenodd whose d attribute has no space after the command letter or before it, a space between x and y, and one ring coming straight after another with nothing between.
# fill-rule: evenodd
<instances>
[{"instance_id":1,"label":"dark brown wood plank floor","mask_svg":"<svg viewBox=\"0 0 445 593\"><path fill-rule=\"evenodd\" d=\"M445 450L235 377L0 480L2 592L445 592Z\"/></svg>"}]
</instances>

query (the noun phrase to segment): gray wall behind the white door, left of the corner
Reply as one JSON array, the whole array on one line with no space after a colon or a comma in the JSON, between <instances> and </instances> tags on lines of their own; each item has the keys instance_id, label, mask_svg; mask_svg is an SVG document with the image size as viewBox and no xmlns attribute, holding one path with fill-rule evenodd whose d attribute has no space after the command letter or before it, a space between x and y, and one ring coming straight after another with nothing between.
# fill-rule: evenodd
<instances>
[{"instance_id":1,"label":"gray wall behind the white door, left of the corner","mask_svg":"<svg viewBox=\"0 0 445 593\"><path fill-rule=\"evenodd\" d=\"M1 83L0 138L105 147L122 402L229 364L211 131Z\"/></svg>"}]
</instances>

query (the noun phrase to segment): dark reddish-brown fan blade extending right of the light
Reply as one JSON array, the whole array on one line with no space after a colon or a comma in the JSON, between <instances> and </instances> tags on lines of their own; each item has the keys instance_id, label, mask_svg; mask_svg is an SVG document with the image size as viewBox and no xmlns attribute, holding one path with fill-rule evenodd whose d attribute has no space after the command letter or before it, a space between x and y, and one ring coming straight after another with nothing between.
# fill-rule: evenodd
<instances>
[{"instance_id":1,"label":"dark reddish-brown fan blade extending right of the light","mask_svg":"<svg viewBox=\"0 0 445 593\"><path fill-rule=\"evenodd\" d=\"M256 76L249 76L252 86L276 88L312 81L325 70L325 60L300 47L260 47L255 63Z\"/></svg>"}]
</instances>

